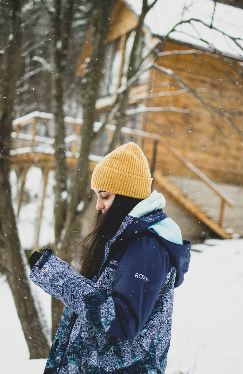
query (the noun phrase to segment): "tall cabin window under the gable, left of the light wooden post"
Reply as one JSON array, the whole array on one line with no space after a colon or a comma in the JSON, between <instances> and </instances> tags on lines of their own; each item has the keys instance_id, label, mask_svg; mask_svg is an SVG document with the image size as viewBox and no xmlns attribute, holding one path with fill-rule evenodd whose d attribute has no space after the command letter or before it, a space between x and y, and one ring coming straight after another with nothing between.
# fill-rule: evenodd
<instances>
[{"instance_id":1,"label":"tall cabin window under the gable, left of the light wooden post","mask_svg":"<svg viewBox=\"0 0 243 374\"><path fill-rule=\"evenodd\" d=\"M100 84L100 97L111 95L116 92L121 66L122 51L119 49L119 39L109 43L106 50L104 68L102 70L103 80Z\"/></svg>"}]
</instances>

